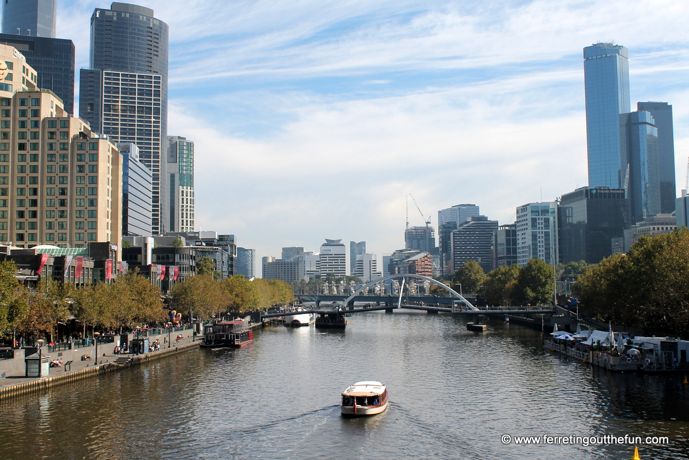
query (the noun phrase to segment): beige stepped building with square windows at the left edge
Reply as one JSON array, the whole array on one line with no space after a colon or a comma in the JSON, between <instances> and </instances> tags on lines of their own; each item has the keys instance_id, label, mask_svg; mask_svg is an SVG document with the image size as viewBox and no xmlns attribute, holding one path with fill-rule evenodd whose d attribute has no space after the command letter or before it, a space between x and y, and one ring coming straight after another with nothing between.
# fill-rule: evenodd
<instances>
[{"instance_id":1,"label":"beige stepped building with square windows at the left edge","mask_svg":"<svg viewBox=\"0 0 689 460\"><path fill-rule=\"evenodd\" d=\"M85 247L122 239L122 159L54 94L14 48L0 61L0 240ZM21 84L20 84L21 82Z\"/></svg>"}]
</instances>

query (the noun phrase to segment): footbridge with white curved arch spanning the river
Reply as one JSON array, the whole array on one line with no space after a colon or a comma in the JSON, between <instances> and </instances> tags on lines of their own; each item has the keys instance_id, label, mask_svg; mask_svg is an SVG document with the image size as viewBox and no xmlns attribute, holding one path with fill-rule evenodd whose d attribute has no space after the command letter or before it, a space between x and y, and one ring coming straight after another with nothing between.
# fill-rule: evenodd
<instances>
[{"instance_id":1,"label":"footbridge with white curved arch spanning the river","mask_svg":"<svg viewBox=\"0 0 689 460\"><path fill-rule=\"evenodd\" d=\"M379 282L384 282L392 279L402 279L400 284L399 294L393 295L362 295L363 291L367 291L372 286ZM439 295L405 295L404 287L409 286L409 282L413 280L421 280L430 282L439 286L445 293L446 297ZM285 315L294 315L299 313L317 313L319 315L332 315L333 313L366 313L369 311L392 311L393 309L411 309L411 310L425 310L429 313L454 313L459 315L524 315L524 314L553 314L555 309L552 306L484 306L477 307L466 300L460 293L451 289L449 286L442 284L433 278L428 278L423 275L416 275L413 273L404 273L399 275L389 275L384 278L369 282L361 286L356 292L351 293L349 297L343 299L343 295L298 295L300 300L307 302L314 302L316 305L309 309L309 307L301 307L300 310L294 309L265 313L261 315L263 318L280 317ZM321 307L322 302L327 303L327 306ZM358 302L359 305L356 305ZM362 305L363 304L363 305Z\"/></svg>"}]
</instances>

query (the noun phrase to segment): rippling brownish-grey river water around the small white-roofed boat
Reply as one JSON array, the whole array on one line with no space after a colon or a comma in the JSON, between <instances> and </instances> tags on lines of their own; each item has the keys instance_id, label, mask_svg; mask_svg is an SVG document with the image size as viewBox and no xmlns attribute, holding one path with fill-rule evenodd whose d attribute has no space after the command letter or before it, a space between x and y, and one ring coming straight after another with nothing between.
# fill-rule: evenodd
<instances>
[{"instance_id":1,"label":"rippling brownish-grey river water around the small white-roofed boat","mask_svg":"<svg viewBox=\"0 0 689 460\"><path fill-rule=\"evenodd\" d=\"M689 385L544 354L541 334L451 315L371 312L346 331L271 326L0 401L1 459L630 459L632 444L516 445L503 435L669 437L641 459L689 459ZM390 405L343 419L340 393L387 384Z\"/></svg>"}]
</instances>

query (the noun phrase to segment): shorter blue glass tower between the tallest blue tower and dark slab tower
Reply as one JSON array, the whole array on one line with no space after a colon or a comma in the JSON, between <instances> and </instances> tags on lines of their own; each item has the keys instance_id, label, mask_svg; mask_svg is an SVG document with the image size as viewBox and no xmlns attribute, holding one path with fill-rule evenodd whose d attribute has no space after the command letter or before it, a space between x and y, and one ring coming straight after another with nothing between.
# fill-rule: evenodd
<instances>
[{"instance_id":1,"label":"shorter blue glass tower between the tallest blue tower and dark slab tower","mask_svg":"<svg viewBox=\"0 0 689 460\"><path fill-rule=\"evenodd\" d=\"M626 134L622 148L629 161L630 224L636 224L660 212L658 130L648 112L622 114L620 120Z\"/></svg>"}]
</instances>

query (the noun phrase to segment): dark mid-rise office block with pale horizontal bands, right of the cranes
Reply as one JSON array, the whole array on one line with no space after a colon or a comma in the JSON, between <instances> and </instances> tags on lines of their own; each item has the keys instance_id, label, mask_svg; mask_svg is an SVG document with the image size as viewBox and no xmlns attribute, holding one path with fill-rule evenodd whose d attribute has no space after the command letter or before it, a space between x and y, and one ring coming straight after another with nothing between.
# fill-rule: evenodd
<instances>
[{"instance_id":1,"label":"dark mid-rise office block with pale horizontal bands, right of the cranes","mask_svg":"<svg viewBox=\"0 0 689 460\"><path fill-rule=\"evenodd\" d=\"M493 270L493 235L497 220L486 216L473 216L452 232L452 271L462 268L465 262L478 262L485 273Z\"/></svg>"}]
</instances>

